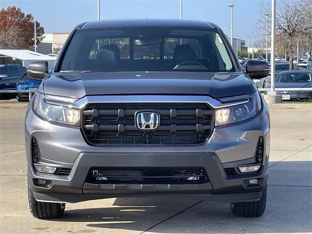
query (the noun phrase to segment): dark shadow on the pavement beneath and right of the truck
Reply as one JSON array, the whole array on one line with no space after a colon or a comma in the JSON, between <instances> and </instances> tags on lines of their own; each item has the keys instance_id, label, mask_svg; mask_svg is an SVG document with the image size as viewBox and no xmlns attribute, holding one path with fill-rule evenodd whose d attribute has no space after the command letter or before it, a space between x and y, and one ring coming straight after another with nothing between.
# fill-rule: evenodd
<instances>
[{"instance_id":1,"label":"dark shadow on the pavement beneath and right of the truck","mask_svg":"<svg viewBox=\"0 0 312 234\"><path fill-rule=\"evenodd\" d=\"M121 233L309 233L311 165L312 161L282 161L269 169L266 212L259 218L236 217L228 203L142 197L116 198L111 207L66 210L63 218L55 221L85 222L87 227Z\"/></svg>"}]
</instances>

